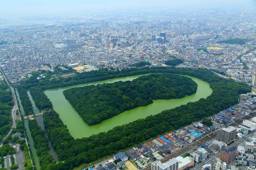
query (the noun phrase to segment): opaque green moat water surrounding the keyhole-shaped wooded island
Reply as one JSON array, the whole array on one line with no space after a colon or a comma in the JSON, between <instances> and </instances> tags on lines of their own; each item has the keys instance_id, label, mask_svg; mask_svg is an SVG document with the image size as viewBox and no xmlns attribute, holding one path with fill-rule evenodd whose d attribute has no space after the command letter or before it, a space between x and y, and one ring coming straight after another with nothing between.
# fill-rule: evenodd
<instances>
[{"instance_id":1,"label":"opaque green moat water surrounding the keyhole-shaped wooded island","mask_svg":"<svg viewBox=\"0 0 256 170\"><path fill-rule=\"evenodd\" d=\"M76 112L73 106L69 103L69 101L63 95L63 91L70 88L97 85L97 84L103 84L103 83L114 83L118 81L132 81L133 79L136 79L144 75L149 75L149 74L120 77L120 78L114 78L114 79L107 79L104 81L78 84L75 86L49 89L49 90L46 90L44 93L50 99L50 101L53 104L53 109L59 114L60 119L63 121L64 125L67 126L70 134L75 139L82 138L82 137L89 137L93 134L97 134L100 132L106 132L115 126L128 124L129 122L133 122L138 119L143 119L149 115L158 114L163 110L172 109L177 106L187 104L188 102L196 102L199 99L207 98L210 94L212 94L212 89L210 88L209 83L202 81L201 79L198 79L196 77L183 75L186 77L190 77L194 82L197 83L196 93L180 99L153 100L152 104L131 109L128 111L124 111L123 113L117 116L114 116L108 120L101 122L100 124L93 125L93 126L89 126L84 122L82 117Z\"/></svg>"}]
</instances>

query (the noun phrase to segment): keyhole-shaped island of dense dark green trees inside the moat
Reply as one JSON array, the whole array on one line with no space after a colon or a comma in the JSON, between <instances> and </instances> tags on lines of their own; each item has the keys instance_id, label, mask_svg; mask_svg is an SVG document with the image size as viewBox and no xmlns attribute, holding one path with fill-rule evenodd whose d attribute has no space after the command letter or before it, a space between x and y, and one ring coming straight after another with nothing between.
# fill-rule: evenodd
<instances>
[{"instance_id":1,"label":"keyhole-shaped island of dense dark green trees inside the moat","mask_svg":"<svg viewBox=\"0 0 256 170\"><path fill-rule=\"evenodd\" d=\"M174 74L151 74L133 81L99 84L65 90L63 94L89 125L123 111L146 106L153 99L182 98L196 92L191 78Z\"/></svg>"}]
</instances>

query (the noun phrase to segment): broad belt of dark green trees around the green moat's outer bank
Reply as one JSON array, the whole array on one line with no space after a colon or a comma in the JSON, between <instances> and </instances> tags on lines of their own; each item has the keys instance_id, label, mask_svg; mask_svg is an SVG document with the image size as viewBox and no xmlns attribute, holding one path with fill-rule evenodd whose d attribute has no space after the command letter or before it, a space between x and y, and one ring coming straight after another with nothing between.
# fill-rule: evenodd
<instances>
[{"instance_id":1,"label":"broad belt of dark green trees around the green moat's outer bank","mask_svg":"<svg viewBox=\"0 0 256 170\"><path fill-rule=\"evenodd\" d=\"M90 163L106 155L114 154L121 149L135 146L166 131L173 131L181 126L191 124L192 121L200 121L220 110L229 108L231 105L238 103L239 94L250 92L250 87L245 83L220 78L215 76L210 70L192 70L176 67L143 67L122 71L91 71L66 79L60 78L40 82L31 80L28 83L23 83L20 88L29 90L31 87L37 87L45 90L145 73L177 73L197 77L210 83L213 93L206 99L200 99L197 102L165 110L157 115L151 115L145 119L139 119L126 125L114 127L107 132L82 139L74 139L59 115L50 109L43 115L44 124L52 146L56 150L61 162L49 164L46 169L73 169L82 163Z\"/></svg>"}]
</instances>

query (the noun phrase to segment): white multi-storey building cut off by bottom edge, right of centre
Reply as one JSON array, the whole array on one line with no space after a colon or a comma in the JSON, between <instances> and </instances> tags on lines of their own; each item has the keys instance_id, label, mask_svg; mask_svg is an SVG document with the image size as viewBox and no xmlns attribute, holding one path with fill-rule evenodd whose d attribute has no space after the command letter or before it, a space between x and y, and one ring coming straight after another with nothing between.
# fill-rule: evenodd
<instances>
[{"instance_id":1,"label":"white multi-storey building cut off by bottom edge, right of centre","mask_svg":"<svg viewBox=\"0 0 256 170\"><path fill-rule=\"evenodd\" d=\"M178 170L178 160L173 158L166 163L156 160L151 164L151 170Z\"/></svg>"}]
</instances>

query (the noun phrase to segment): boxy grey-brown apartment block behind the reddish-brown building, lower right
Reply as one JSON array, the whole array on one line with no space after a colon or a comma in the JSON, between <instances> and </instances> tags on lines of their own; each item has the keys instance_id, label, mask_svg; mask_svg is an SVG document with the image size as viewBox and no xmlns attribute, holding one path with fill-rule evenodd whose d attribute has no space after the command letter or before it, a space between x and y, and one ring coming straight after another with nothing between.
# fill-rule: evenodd
<instances>
[{"instance_id":1,"label":"boxy grey-brown apartment block behind the reddish-brown building, lower right","mask_svg":"<svg viewBox=\"0 0 256 170\"><path fill-rule=\"evenodd\" d=\"M236 139L236 128L234 126L229 126L218 129L217 139L226 144L234 141Z\"/></svg>"}]
</instances>

